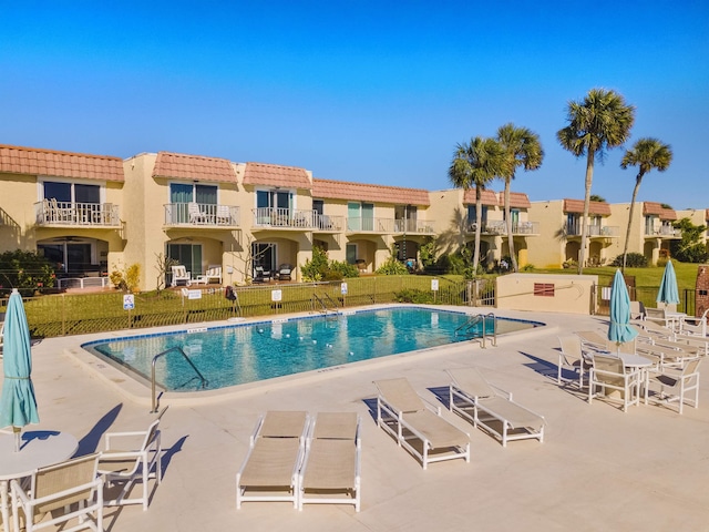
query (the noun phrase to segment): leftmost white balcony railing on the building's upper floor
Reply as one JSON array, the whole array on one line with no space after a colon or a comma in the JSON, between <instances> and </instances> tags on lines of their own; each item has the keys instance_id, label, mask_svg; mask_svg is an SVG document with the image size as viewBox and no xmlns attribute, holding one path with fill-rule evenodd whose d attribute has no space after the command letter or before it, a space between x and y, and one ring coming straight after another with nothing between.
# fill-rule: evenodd
<instances>
[{"instance_id":1,"label":"leftmost white balcony railing on the building's upper floor","mask_svg":"<svg viewBox=\"0 0 709 532\"><path fill-rule=\"evenodd\" d=\"M37 225L120 227L119 206L112 203L74 203L44 200L34 204Z\"/></svg>"}]
</instances>

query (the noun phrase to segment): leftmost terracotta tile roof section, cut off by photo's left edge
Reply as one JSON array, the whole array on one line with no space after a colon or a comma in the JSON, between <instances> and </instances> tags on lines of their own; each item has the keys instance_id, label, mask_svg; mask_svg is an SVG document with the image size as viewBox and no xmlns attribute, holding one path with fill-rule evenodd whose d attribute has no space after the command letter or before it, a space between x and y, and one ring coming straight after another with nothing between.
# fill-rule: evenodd
<instances>
[{"instance_id":1,"label":"leftmost terracotta tile roof section, cut off by photo's left edge","mask_svg":"<svg viewBox=\"0 0 709 532\"><path fill-rule=\"evenodd\" d=\"M0 173L80 177L123 183L123 161L110 155L0 144Z\"/></svg>"}]
</instances>

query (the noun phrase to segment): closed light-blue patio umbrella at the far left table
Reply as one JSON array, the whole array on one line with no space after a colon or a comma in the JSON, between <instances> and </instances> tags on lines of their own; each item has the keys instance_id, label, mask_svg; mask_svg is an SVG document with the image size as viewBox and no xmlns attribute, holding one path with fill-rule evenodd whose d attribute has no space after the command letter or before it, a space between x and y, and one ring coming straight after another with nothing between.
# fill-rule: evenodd
<instances>
[{"instance_id":1,"label":"closed light-blue patio umbrella at the far left table","mask_svg":"<svg viewBox=\"0 0 709 532\"><path fill-rule=\"evenodd\" d=\"M2 346L2 396L0 396L0 427L12 427L16 451L20 450L20 431L29 423L39 423L30 351L30 328L22 305L22 296L12 289L4 318Z\"/></svg>"}]
</instances>

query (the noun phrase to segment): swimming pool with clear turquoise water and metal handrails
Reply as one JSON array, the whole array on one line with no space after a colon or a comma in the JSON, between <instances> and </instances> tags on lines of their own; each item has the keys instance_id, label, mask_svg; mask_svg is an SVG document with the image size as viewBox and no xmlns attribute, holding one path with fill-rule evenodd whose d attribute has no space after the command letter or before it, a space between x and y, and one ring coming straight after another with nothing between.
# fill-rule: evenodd
<instances>
[{"instance_id":1,"label":"swimming pool with clear turquoise water and metal handrails","mask_svg":"<svg viewBox=\"0 0 709 532\"><path fill-rule=\"evenodd\" d=\"M470 319L451 310L390 307L96 340L82 348L145 379L153 357L174 349L157 359L157 383L171 391L213 390L480 337L482 324ZM497 334L543 325L512 318L496 324ZM490 327L487 321L487 334Z\"/></svg>"}]
</instances>

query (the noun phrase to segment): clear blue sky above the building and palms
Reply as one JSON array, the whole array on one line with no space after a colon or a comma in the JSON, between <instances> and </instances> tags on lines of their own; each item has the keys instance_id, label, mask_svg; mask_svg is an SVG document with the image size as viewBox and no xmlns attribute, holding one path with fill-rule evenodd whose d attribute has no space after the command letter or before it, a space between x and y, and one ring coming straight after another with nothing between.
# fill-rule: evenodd
<instances>
[{"instance_id":1,"label":"clear blue sky above the building and palms","mask_svg":"<svg viewBox=\"0 0 709 532\"><path fill-rule=\"evenodd\" d=\"M127 157L172 151L316 177L450 188L455 145L507 122L546 156L532 201L583 198L566 104L620 92L633 137L671 145L640 201L709 207L709 2L0 0L0 143ZM623 149L593 193L629 202ZM502 184L493 184L502 190Z\"/></svg>"}]
</instances>

